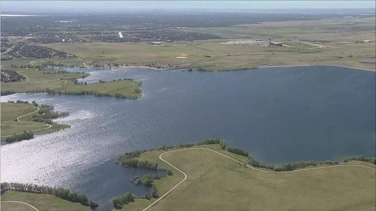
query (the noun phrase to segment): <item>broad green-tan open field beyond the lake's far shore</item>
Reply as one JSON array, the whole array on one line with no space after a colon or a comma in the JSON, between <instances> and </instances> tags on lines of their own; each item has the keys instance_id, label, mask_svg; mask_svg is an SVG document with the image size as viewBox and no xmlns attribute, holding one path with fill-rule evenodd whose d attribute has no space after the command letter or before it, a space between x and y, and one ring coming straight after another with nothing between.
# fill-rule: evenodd
<instances>
[{"instance_id":1,"label":"broad green-tan open field beyond the lake's far shore","mask_svg":"<svg viewBox=\"0 0 376 211\"><path fill-rule=\"evenodd\" d=\"M360 63L361 61L375 61L375 43L326 44L328 48L298 50L285 47L220 45L218 44L220 42L218 40L177 42L168 43L165 47L150 46L146 42L131 44L93 42L49 44L49 47L69 53L74 52L80 57L86 57L88 61L97 60L131 65L169 63L179 65L178 68L184 69L203 68L218 71L270 63L273 66L334 65L375 70L374 65ZM181 54L187 54L184 56L186 58L176 58Z\"/></svg>"}]
</instances>

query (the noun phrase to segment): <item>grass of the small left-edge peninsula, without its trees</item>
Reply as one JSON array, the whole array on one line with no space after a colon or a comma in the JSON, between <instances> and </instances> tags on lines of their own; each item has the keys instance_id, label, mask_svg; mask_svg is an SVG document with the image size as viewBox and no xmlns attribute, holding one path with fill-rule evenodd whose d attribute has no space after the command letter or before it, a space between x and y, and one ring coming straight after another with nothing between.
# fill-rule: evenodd
<instances>
[{"instance_id":1,"label":"grass of the small left-edge peninsula, without its trees","mask_svg":"<svg viewBox=\"0 0 376 211\"><path fill-rule=\"evenodd\" d=\"M24 122L18 122L15 121L20 116L26 115L28 113L35 112L38 110L37 107L26 107L22 106L24 104L8 104L8 103L0 103L0 125L22 125L27 127L17 127L17 126L1 126L0 130L0 140L5 140L6 137L14 133L23 133L24 131L33 131L33 130L39 130L43 128L48 128L48 126L44 125L38 125L35 124L35 122L31 121L31 115L24 116L22 118L19 118L20 121L28 121L30 123L24 123ZM32 106L31 104L28 104ZM35 126L35 127L30 127ZM46 130L40 130L33 132L34 134L42 134L42 133L49 133L56 130L61 130L64 128L69 128L69 125L56 125L52 124L51 128L48 128Z\"/></svg>"}]
</instances>

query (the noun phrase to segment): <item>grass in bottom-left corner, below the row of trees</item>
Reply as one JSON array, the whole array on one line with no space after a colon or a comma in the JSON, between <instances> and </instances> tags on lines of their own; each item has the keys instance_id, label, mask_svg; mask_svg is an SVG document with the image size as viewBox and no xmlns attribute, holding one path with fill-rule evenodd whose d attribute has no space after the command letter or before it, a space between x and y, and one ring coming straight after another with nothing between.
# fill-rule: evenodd
<instances>
[{"instance_id":1,"label":"grass in bottom-left corner, below the row of trees","mask_svg":"<svg viewBox=\"0 0 376 211\"><path fill-rule=\"evenodd\" d=\"M21 201L35 206L40 211L89 211L88 206L73 203L50 194L36 194L8 190L0 195L1 201ZM20 203L1 203L1 211L34 211L33 208Z\"/></svg>"}]
</instances>

